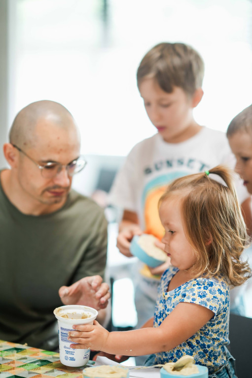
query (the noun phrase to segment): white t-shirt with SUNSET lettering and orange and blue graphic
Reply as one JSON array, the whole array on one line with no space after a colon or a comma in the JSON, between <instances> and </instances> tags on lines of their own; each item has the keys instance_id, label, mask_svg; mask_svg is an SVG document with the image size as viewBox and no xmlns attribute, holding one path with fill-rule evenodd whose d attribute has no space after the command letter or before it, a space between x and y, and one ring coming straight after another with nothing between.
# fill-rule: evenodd
<instances>
[{"instance_id":1,"label":"white t-shirt with SUNSET lettering and orange and blue graphic","mask_svg":"<svg viewBox=\"0 0 252 378\"><path fill-rule=\"evenodd\" d=\"M203 127L192 138L181 143L167 143L159 134L144 139L131 152L112 185L110 203L136 212L144 232L162 238L157 203L167 185L174 179L204 172L219 164L233 168L225 133ZM236 177L242 203L248 196L242 181Z\"/></svg>"}]
</instances>

